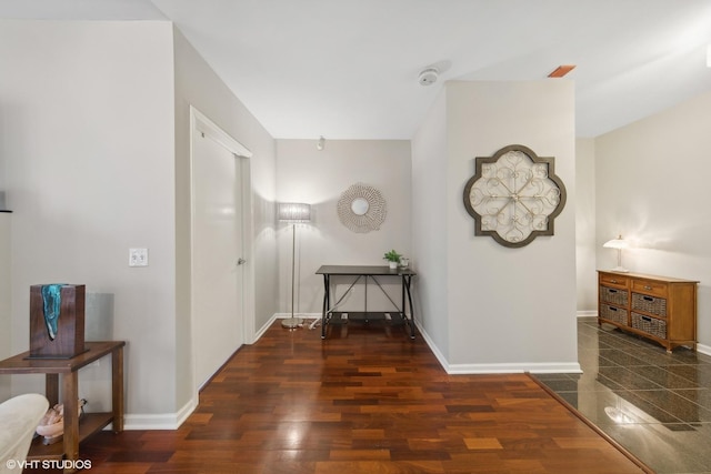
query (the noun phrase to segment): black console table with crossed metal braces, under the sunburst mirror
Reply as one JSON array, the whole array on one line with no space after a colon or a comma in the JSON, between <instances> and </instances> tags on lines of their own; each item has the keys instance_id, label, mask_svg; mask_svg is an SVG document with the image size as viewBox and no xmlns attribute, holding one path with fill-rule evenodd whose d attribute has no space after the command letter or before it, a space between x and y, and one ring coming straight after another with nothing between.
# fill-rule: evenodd
<instances>
[{"instance_id":1,"label":"black console table with crossed metal braces, under the sunburst mirror","mask_svg":"<svg viewBox=\"0 0 711 474\"><path fill-rule=\"evenodd\" d=\"M414 310L412 309L412 294L410 292L410 286L412 283L412 278L417 275L410 269L390 269L385 265L374 265L374 266L362 266L362 265L322 265L317 272L319 275L323 275L323 311L321 314L321 339L326 339L326 325L331 321L333 316L340 319L343 313L348 314L348 320L354 321L364 321L368 322L370 320L385 320L390 316L397 316L410 326L410 339L414 339ZM343 295L336 301L336 303L331 303L331 276L354 276L356 279L349 286L349 289L343 293ZM402 302L401 305L398 306L392 299L385 293L385 291L380 285L378 281L379 278L384 276L397 276L400 279L402 284ZM364 280L365 283L365 301L363 305L363 311L347 311L347 312L337 312L334 311L343 297L348 294L351 288L359 281ZM395 311L368 311L368 281L372 280L378 288L388 296L390 302L395 306ZM410 306L410 317L407 314L405 303Z\"/></svg>"}]
</instances>

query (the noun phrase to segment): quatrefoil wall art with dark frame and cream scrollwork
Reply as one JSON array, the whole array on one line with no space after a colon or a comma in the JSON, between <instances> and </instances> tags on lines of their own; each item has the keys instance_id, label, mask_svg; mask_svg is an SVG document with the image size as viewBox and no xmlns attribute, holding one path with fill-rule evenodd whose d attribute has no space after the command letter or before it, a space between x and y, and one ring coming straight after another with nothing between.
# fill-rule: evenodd
<instances>
[{"instance_id":1,"label":"quatrefoil wall art with dark frame and cream scrollwork","mask_svg":"<svg viewBox=\"0 0 711 474\"><path fill-rule=\"evenodd\" d=\"M477 157L475 173L464 186L474 235L491 235L509 248L553 235L553 221L564 205L565 186L555 175L555 159L538 157L520 144L493 157Z\"/></svg>"}]
</instances>

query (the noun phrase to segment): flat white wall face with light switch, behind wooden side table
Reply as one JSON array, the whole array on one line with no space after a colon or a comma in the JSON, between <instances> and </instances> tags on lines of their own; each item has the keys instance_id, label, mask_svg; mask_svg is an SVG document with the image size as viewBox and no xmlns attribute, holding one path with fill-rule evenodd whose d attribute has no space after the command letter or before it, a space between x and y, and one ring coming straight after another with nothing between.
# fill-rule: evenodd
<instances>
[{"instance_id":1,"label":"flat white wall face with light switch, behind wooden side table","mask_svg":"<svg viewBox=\"0 0 711 474\"><path fill-rule=\"evenodd\" d=\"M168 22L0 23L0 154L12 214L12 352L29 346L32 284L108 295L128 341L128 413L176 410L172 29ZM129 248L150 266L129 268ZM92 297L92 296L88 296ZM89 324L89 323L88 323ZM102 409L106 370L80 377ZM12 390L43 390L17 375ZM86 383L84 383L86 382Z\"/></svg>"}]
</instances>

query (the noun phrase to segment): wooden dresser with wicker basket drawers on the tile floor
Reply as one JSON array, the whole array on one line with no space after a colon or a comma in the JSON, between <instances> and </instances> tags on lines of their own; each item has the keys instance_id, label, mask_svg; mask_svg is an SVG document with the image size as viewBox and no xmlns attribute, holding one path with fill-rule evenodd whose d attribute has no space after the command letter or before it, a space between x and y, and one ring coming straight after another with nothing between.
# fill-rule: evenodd
<instances>
[{"instance_id":1,"label":"wooden dresser with wicker basket drawers on the tile floor","mask_svg":"<svg viewBox=\"0 0 711 474\"><path fill-rule=\"evenodd\" d=\"M697 350L697 284L692 280L598 271L598 323L657 341L667 352Z\"/></svg>"}]
</instances>

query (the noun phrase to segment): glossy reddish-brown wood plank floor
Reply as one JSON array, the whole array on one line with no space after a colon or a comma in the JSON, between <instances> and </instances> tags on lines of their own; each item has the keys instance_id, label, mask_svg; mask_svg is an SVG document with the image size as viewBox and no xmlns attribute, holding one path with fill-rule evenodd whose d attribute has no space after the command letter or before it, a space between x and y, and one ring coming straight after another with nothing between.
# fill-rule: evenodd
<instances>
[{"instance_id":1,"label":"glossy reddish-brown wood plank floor","mask_svg":"<svg viewBox=\"0 0 711 474\"><path fill-rule=\"evenodd\" d=\"M80 457L91 474L642 472L525 374L448 375L401 326L329 333L277 323L179 430L101 432Z\"/></svg>"}]
</instances>

